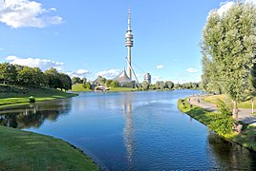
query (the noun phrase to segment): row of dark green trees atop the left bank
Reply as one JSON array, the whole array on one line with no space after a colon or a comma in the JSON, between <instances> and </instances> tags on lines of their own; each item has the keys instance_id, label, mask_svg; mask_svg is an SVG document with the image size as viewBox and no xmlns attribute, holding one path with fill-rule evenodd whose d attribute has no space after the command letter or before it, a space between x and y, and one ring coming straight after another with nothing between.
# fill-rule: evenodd
<instances>
[{"instance_id":1,"label":"row of dark green trees atop the left bank","mask_svg":"<svg viewBox=\"0 0 256 171\"><path fill-rule=\"evenodd\" d=\"M0 81L4 84L39 85L69 90L72 80L69 75L50 68L43 72L39 67L0 64Z\"/></svg>"}]
</instances>

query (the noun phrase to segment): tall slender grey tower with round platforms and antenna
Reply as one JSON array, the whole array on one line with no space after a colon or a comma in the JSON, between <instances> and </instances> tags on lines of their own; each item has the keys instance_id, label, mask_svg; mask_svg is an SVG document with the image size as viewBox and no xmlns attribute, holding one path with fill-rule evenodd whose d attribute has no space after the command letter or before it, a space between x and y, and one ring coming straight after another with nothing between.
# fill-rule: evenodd
<instances>
[{"instance_id":1,"label":"tall slender grey tower with round platforms and antenna","mask_svg":"<svg viewBox=\"0 0 256 171\"><path fill-rule=\"evenodd\" d=\"M127 31L126 31L126 34L125 34L125 47L127 47L128 49L128 53L127 53L127 63L128 63L128 66L127 66L127 76L132 80L132 68L131 68L131 65L132 65L132 55L131 55L131 52L132 52L132 47L134 46L134 41L133 41L133 38L134 38L134 35L132 33L132 29L131 29L131 16L130 16L130 9L128 10L128 28L127 28Z\"/></svg>"}]
</instances>

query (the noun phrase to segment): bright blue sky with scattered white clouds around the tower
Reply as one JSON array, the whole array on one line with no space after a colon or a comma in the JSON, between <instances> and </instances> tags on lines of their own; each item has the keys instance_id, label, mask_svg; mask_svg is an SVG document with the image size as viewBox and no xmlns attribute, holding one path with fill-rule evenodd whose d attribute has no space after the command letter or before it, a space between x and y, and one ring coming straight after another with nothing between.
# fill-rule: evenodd
<instances>
[{"instance_id":1,"label":"bright blue sky with scattered white clouds around the tower","mask_svg":"<svg viewBox=\"0 0 256 171\"><path fill-rule=\"evenodd\" d=\"M255 2L256 0L250 0ZM221 0L0 0L0 62L51 66L71 76L108 79L126 66L124 34L131 8L132 63L142 81L201 80L199 43Z\"/></svg>"}]
</instances>

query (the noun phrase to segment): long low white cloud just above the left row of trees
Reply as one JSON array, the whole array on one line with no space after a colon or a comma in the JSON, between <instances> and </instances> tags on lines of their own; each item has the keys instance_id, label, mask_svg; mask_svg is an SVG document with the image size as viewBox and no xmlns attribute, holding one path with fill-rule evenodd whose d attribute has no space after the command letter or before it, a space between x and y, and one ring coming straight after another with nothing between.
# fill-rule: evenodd
<instances>
[{"instance_id":1,"label":"long low white cloud just above the left row of trees","mask_svg":"<svg viewBox=\"0 0 256 171\"><path fill-rule=\"evenodd\" d=\"M57 70L62 70L62 67L64 66L64 63L61 62L54 62L52 60L39 58L19 58L16 56L8 56L6 57L6 60L11 61L11 64L16 64L20 66L39 67L42 70L46 70L51 67L54 67Z\"/></svg>"}]
</instances>

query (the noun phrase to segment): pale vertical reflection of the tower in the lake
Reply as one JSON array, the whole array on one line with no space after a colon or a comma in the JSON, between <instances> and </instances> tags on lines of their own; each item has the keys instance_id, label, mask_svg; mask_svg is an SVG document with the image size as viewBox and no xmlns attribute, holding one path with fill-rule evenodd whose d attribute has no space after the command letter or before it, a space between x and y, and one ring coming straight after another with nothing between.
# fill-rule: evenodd
<instances>
[{"instance_id":1,"label":"pale vertical reflection of the tower in the lake","mask_svg":"<svg viewBox=\"0 0 256 171\"><path fill-rule=\"evenodd\" d=\"M133 120L131 97L124 97L122 100L122 109L124 114L125 126L123 129L123 140L126 148L126 157L128 162L133 160L134 141L133 141Z\"/></svg>"}]
</instances>

